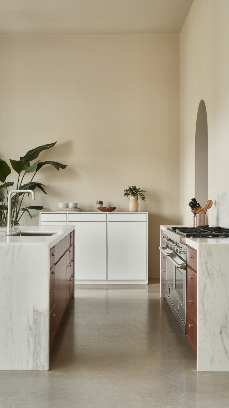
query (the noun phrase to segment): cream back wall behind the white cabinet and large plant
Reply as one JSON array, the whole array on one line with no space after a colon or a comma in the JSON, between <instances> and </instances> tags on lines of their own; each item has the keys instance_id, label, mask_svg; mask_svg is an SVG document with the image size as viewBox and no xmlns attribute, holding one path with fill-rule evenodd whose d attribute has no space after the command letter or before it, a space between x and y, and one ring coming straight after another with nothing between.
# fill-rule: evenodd
<instances>
[{"instance_id":1,"label":"cream back wall behind the white cabinet and large plant","mask_svg":"<svg viewBox=\"0 0 229 408\"><path fill-rule=\"evenodd\" d=\"M139 211L159 277L160 224L179 222L179 36L1 37L0 56L0 158L58 141L40 155L68 165L38 173L45 211L96 211L96 200L128 211L124 188L146 190Z\"/></svg>"}]
</instances>

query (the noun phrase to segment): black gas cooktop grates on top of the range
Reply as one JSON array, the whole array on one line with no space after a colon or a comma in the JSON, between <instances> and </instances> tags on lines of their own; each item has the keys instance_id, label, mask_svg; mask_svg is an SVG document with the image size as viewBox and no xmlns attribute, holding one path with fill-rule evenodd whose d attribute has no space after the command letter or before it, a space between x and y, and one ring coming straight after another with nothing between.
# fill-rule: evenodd
<instances>
[{"instance_id":1,"label":"black gas cooktop grates on top of the range","mask_svg":"<svg viewBox=\"0 0 229 408\"><path fill-rule=\"evenodd\" d=\"M170 227L187 238L229 238L229 228L223 227Z\"/></svg>"}]
</instances>

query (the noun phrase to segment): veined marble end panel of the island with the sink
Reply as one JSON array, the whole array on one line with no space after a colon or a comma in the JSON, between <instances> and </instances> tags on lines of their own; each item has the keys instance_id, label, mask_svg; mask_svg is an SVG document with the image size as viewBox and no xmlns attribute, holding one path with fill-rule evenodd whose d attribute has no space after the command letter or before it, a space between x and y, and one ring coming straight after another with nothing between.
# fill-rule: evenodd
<instances>
[{"instance_id":1,"label":"veined marble end panel of the island with the sink","mask_svg":"<svg viewBox=\"0 0 229 408\"><path fill-rule=\"evenodd\" d=\"M49 369L49 243L0 243L0 370Z\"/></svg>"}]
</instances>

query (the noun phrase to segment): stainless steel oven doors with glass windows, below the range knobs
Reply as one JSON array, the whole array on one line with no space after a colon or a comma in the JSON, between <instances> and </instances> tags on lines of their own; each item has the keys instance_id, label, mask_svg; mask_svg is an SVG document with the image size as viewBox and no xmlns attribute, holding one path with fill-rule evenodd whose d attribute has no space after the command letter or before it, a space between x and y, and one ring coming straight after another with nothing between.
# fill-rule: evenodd
<instances>
[{"instance_id":1,"label":"stainless steel oven doors with glass windows, below the range knobs","mask_svg":"<svg viewBox=\"0 0 229 408\"><path fill-rule=\"evenodd\" d=\"M167 254L166 293L185 324L186 264L174 253Z\"/></svg>"}]
</instances>

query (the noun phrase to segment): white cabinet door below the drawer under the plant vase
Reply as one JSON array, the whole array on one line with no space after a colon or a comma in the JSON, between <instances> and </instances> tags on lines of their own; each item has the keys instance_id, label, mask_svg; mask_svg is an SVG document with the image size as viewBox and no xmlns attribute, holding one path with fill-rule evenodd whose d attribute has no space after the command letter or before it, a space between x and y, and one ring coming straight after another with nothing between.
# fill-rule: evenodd
<instances>
[{"instance_id":1,"label":"white cabinet door below the drawer under the plant vase","mask_svg":"<svg viewBox=\"0 0 229 408\"><path fill-rule=\"evenodd\" d=\"M108 222L108 279L147 279L147 222Z\"/></svg>"}]
</instances>

